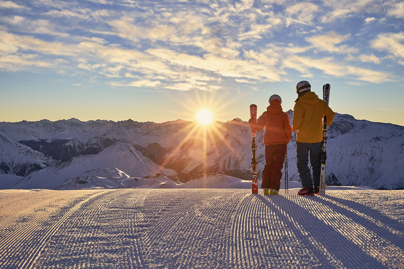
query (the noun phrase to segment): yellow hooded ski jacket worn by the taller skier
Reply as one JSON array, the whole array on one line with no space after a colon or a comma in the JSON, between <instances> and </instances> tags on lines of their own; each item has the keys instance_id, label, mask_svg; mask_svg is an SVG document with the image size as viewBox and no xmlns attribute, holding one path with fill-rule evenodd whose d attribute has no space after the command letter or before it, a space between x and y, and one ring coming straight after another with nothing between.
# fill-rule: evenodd
<instances>
[{"instance_id":1,"label":"yellow hooded ski jacket worn by the taller skier","mask_svg":"<svg viewBox=\"0 0 404 269\"><path fill-rule=\"evenodd\" d=\"M323 141L323 117L327 116L328 127L335 113L312 91L300 95L294 102L292 131L297 132L297 142Z\"/></svg>"}]
</instances>

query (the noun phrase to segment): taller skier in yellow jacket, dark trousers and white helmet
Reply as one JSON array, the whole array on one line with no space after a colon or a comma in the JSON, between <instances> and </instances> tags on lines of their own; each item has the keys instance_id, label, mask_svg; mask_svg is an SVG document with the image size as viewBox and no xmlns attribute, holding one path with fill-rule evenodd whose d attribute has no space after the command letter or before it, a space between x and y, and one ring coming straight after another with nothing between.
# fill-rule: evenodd
<instances>
[{"instance_id":1,"label":"taller skier in yellow jacket, dark trousers and white helmet","mask_svg":"<svg viewBox=\"0 0 404 269\"><path fill-rule=\"evenodd\" d=\"M323 141L323 117L327 116L327 127L334 120L335 113L326 102L311 91L307 81L296 85L298 98L293 108L292 131L297 132L296 157L297 172L301 181L299 195L314 195L319 193L321 173L321 142ZM313 178L309 164L313 168Z\"/></svg>"}]
</instances>

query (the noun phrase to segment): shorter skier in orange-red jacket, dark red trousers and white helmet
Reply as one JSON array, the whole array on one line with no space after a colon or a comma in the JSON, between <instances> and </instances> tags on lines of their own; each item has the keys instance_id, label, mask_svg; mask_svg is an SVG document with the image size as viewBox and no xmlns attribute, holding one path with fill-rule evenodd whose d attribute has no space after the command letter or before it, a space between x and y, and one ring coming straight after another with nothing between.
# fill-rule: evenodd
<instances>
[{"instance_id":1,"label":"shorter skier in orange-red jacket, dark red trousers and white helmet","mask_svg":"<svg viewBox=\"0 0 404 269\"><path fill-rule=\"evenodd\" d=\"M269 106L254 123L252 119L248 121L251 128L261 131L265 128L265 162L266 165L262 172L262 185L264 195L278 194L281 178L283 161L286 154L286 146L292 137L289 117L282 111L282 99L274 94L269 98Z\"/></svg>"}]
</instances>

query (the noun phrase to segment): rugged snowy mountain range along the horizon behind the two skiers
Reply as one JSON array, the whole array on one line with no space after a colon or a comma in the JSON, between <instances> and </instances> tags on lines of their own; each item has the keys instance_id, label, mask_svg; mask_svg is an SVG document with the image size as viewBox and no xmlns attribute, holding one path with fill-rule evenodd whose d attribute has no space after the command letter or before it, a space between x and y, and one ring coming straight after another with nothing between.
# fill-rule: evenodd
<instances>
[{"instance_id":1,"label":"rugged snowy mountain range along the horizon behind the two skiers","mask_svg":"<svg viewBox=\"0 0 404 269\"><path fill-rule=\"evenodd\" d=\"M287 113L291 119L292 111ZM28 175L24 181L47 173L49 178L54 176L55 187L86 171L99 168L117 168L131 178L143 177L147 173L133 165L140 162L141 157L146 157L148 162L141 162L153 173L158 173L158 169L151 169L150 166L157 164L178 172L183 182L205 173L251 178L250 128L240 119L216 122L206 127L183 120L161 124L132 120L81 122L76 119L3 122L0 123L0 132L12 143L24 144L33 152L43 153L41 160L48 158L53 161L41 168L51 167ZM334 123L328 129L328 185L404 188L403 133L403 126L356 120L349 115L336 114ZM263 138L264 131L258 132L259 177L265 165ZM123 144L126 145L125 149L122 148ZM111 154L108 150L112 148L115 149ZM2 150L0 157L3 162L8 159L6 154L10 154L10 151L20 156L15 149ZM131 158L120 157L126 151L132 152L129 154ZM138 158L134 159L133 156ZM61 164L56 165L56 160ZM298 181L295 163L293 135L288 144L288 175L289 180ZM130 164L136 168L130 169ZM77 173L70 175L70 172L60 172L66 169ZM9 172L2 169L2 173Z\"/></svg>"}]
</instances>

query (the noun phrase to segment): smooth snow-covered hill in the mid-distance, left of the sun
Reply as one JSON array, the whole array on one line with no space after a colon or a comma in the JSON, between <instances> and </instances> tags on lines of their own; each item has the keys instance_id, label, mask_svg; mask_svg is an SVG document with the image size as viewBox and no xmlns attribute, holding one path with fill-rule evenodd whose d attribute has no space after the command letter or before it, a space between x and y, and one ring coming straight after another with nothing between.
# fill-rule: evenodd
<instances>
[{"instance_id":1,"label":"smooth snow-covered hill in the mid-distance, left of the sun","mask_svg":"<svg viewBox=\"0 0 404 269\"><path fill-rule=\"evenodd\" d=\"M119 175L105 175L116 171ZM156 165L134 147L117 142L98 154L76 156L57 166L35 171L21 179L13 188L64 189L66 186L72 186L73 182L79 184L84 181L96 181L95 178L114 179L115 183L109 181L105 184L110 184L108 187L120 187L123 185L119 181L129 178L128 174L133 178L177 176L174 170Z\"/></svg>"}]
</instances>

